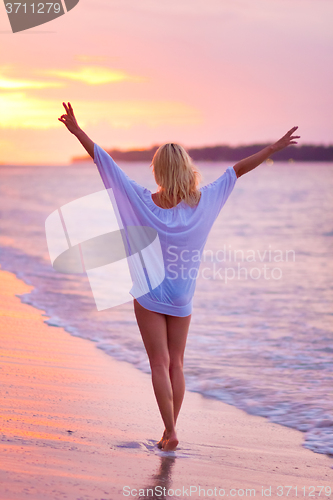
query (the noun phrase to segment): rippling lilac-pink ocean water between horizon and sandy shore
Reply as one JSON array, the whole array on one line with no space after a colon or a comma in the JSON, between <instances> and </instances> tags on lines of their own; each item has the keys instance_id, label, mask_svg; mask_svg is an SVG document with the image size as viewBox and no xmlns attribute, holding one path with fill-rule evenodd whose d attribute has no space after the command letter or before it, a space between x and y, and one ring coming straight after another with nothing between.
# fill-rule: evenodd
<instances>
[{"instance_id":1,"label":"rippling lilac-pink ocean water between horizon and sandy shore","mask_svg":"<svg viewBox=\"0 0 333 500\"><path fill-rule=\"evenodd\" d=\"M144 163L119 163L155 191ZM198 163L202 185L229 166ZM93 163L0 166L0 265L33 285L45 321L149 372L133 304L98 312L85 275L53 270L45 219L103 189ZM185 353L187 388L304 432L333 456L333 165L261 165L210 233ZM1 286L1 283L0 283Z\"/></svg>"}]
</instances>

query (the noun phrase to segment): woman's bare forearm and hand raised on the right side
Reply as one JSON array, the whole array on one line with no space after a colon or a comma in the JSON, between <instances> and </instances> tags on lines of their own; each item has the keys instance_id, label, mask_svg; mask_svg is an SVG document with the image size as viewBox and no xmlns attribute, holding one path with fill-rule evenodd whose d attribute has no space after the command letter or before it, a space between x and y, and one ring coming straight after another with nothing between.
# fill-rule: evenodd
<instances>
[{"instance_id":1,"label":"woman's bare forearm and hand raised on the right side","mask_svg":"<svg viewBox=\"0 0 333 500\"><path fill-rule=\"evenodd\" d=\"M280 140L278 140L274 144L271 144L270 146L267 146L266 148L259 151L258 153L252 156L248 156L247 158L244 158L244 160L241 160L238 163L236 163L236 165L234 165L234 170L236 172L237 177L240 177L241 175L250 172L250 170L253 170L263 161L267 160L273 153L281 151L281 149L290 146L290 144L297 144L295 139L299 139L300 136L293 135L293 133L296 132L297 129L298 127L293 127L292 129L289 130L289 132L287 132L283 137L281 137Z\"/></svg>"}]
</instances>

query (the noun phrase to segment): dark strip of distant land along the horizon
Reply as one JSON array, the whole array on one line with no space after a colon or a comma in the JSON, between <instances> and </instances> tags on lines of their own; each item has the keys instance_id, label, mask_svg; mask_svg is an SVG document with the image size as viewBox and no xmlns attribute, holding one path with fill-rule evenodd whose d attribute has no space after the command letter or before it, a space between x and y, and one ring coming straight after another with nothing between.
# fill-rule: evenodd
<instances>
[{"instance_id":1,"label":"dark strip of distant land along the horizon","mask_svg":"<svg viewBox=\"0 0 333 500\"><path fill-rule=\"evenodd\" d=\"M209 146L202 148L189 148L187 151L195 161L239 161L260 151L268 144L252 144L249 146ZM144 161L151 162L158 146L150 149L121 151L119 149L107 150L117 161ZM89 156L72 158L72 162L88 160ZM289 146L272 155L274 161L333 161L333 145L330 146Z\"/></svg>"}]
</instances>

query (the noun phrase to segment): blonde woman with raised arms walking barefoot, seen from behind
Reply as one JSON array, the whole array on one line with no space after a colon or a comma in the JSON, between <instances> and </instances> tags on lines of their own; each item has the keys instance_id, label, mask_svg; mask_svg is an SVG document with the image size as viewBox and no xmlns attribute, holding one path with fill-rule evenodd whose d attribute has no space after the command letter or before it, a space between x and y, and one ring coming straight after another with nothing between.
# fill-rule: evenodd
<instances>
[{"instance_id":1,"label":"blonde woman with raised arms walking barefoot, seen from behind","mask_svg":"<svg viewBox=\"0 0 333 500\"><path fill-rule=\"evenodd\" d=\"M297 144L295 139L299 136L293 134L298 127L293 127L276 143L229 167L215 182L200 190L199 173L186 151L177 144L165 144L157 150L152 161L159 190L151 194L129 179L80 129L71 104L63 103L63 106L66 114L59 121L78 138L96 163L106 188L111 187L117 203L125 207L121 214L125 219L124 227L141 225L156 229L164 265L169 262L165 265L163 282L134 298L134 311L165 426L158 447L172 451L178 445L176 422L185 393L183 358L197 276L193 275L193 270L197 271L200 266L209 231L236 180L273 153ZM191 254L192 259L189 258Z\"/></svg>"}]
</instances>

